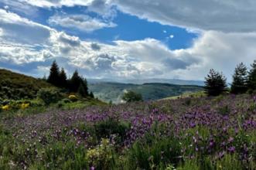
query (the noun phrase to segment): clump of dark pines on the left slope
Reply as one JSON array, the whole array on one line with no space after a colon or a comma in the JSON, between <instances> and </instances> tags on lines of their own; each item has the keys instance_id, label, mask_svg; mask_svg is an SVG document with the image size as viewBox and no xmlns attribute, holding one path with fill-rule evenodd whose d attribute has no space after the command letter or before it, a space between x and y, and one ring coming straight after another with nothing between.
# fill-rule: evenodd
<instances>
[{"instance_id":1,"label":"clump of dark pines on the left slope","mask_svg":"<svg viewBox=\"0 0 256 170\"><path fill-rule=\"evenodd\" d=\"M83 76L80 76L78 71L73 72L73 76L67 79L67 73L63 68L59 68L56 60L53 61L52 66L49 69L49 76L45 78L48 83L53 86L64 88L70 93L79 93L82 97L94 97L94 93L88 92L87 80Z\"/></svg>"}]
</instances>

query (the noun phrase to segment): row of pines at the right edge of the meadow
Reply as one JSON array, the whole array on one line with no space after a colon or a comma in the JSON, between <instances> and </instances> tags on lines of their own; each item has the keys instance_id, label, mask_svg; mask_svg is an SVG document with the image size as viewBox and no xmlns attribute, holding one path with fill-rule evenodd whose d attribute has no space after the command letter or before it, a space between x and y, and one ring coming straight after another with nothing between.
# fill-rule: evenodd
<instances>
[{"instance_id":1,"label":"row of pines at the right edge of the meadow","mask_svg":"<svg viewBox=\"0 0 256 170\"><path fill-rule=\"evenodd\" d=\"M226 93L227 78L223 73L217 72L213 69L205 77L205 92L209 96L217 96L221 93ZM256 60L251 64L251 69L247 70L244 63L236 66L233 74L233 80L230 84L230 93L252 93L256 90Z\"/></svg>"}]
</instances>

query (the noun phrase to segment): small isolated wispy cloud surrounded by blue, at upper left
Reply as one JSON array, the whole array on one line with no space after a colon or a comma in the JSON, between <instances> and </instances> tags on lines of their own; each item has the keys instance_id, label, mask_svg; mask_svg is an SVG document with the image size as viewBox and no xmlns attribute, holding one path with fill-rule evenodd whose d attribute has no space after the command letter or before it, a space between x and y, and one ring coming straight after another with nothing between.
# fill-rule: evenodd
<instances>
[{"instance_id":1,"label":"small isolated wispy cloud surrounded by blue, at upper left","mask_svg":"<svg viewBox=\"0 0 256 170\"><path fill-rule=\"evenodd\" d=\"M69 29L79 29L84 32L93 32L97 29L117 26L113 22L91 18L89 15L53 15L49 18L50 25L62 26Z\"/></svg>"}]
</instances>

